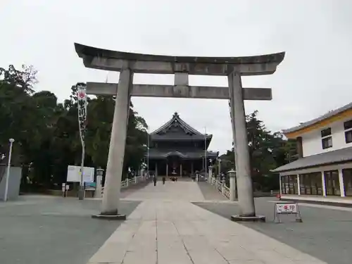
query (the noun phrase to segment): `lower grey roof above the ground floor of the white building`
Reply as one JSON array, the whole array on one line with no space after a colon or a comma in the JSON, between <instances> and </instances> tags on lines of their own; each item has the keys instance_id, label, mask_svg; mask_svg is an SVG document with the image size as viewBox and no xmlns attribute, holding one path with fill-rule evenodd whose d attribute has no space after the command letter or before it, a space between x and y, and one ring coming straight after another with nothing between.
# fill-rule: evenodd
<instances>
[{"instance_id":1,"label":"lower grey roof above the ground floor of the white building","mask_svg":"<svg viewBox=\"0 0 352 264\"><path fill-rule=\"evenodd\" d=\"M285 172L332 163L343 163L346 161L352 161L352 146L345 149L338 149L336 151L328 151L317 155L298 158L297 161L276 168L275 170L272 170L272 172Z\"/></svg>"}]
</instances>

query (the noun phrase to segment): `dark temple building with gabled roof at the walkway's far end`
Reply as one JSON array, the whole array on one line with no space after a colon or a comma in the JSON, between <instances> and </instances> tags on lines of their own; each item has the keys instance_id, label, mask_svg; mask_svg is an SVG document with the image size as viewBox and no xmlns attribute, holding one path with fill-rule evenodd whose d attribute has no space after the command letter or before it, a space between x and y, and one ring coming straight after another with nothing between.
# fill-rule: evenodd
<instances>
[{"instance_id":1,"label":"dark temple building with gabled roof at the walkway's far end","mask_svg":"<svg viewBox=\"0 0 352 264\"><path fill-rule=\"evenodd\" d=\"M159 176L190 177L205 171L219 153L208 151L212 134L202 134L174 113L149 134L149 170Z\"/></svg>"}]
</instances>

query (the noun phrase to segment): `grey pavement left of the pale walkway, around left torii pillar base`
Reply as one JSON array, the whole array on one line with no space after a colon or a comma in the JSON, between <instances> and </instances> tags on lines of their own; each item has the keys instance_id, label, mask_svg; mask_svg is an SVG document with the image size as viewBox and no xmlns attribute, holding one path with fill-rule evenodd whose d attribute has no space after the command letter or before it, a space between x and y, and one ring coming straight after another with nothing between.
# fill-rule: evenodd
<instances>
[{"instance_id":1,"label":"grey pavement left of the pale walkway, around left torii pillar base","mask_svg":"<svg viewBox=\"0 0 352 264\"><path fill-rule=\"evenodd\" d=\"M122 201L129 215L138 201ZM85 264L121 222L96 220L101 201L20 196L0 202L0 264Z\"/></svg>"}]
</instances>

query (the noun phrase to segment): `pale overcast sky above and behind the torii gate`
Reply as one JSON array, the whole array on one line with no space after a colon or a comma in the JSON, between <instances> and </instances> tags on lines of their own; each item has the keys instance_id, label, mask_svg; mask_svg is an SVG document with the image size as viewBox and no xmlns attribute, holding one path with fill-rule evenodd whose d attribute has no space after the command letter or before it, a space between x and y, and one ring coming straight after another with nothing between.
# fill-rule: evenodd
<instances>
[{"instance_id":1,"label":"pale overcast sky above and behind the torii gate","mask_svg":"<svg viewBox=\"0 0 352 264\"><path fill-rule=\"evenodd\" d=\"M74 42L116 51L183 56L250 56L286 51L274 75L244 77L272 87L272 101L246 101L269 130L298 125L351 102L352 1L1 0L0 67L39 73L36 90L60 101L77 82L117 82L118 73L84 68ZM226 86L226 77L190 76L190 85ZM173 84L172 75L134 75L134 83ZM133 98L155 130L175 111L213 134L210 149L231 148L227 101ZM89 118L89 113L88 113Z\"/></svg>"}]
</instances>

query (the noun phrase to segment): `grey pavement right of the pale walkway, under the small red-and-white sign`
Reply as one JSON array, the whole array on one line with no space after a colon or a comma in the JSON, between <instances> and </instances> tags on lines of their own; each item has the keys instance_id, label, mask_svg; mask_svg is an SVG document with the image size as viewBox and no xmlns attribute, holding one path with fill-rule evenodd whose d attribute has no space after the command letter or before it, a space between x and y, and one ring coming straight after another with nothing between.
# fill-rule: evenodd
<instances>
[{"instance_id":1,"label":"grey pavement right of the pale walkway, under the small red-and-white sign","mask_svg":"<svg viewBox=\"0 0 352 264\"><path fill-rule=\"evenodd\" d=\"M295 222L293 215L283 215L282 223L276 224L273 221L274 201L277 199L255 199L257 213L265 215L267 222L259 225L249 222L242 225L326 263L351 263L352 208L299 203L303 222ZM236 203L202 201L194 204L227 219L239 213Z\"/></svg>"}]
</instances>

